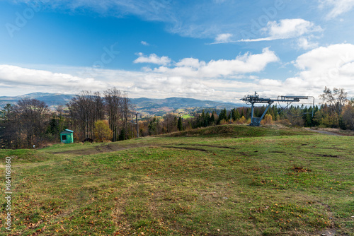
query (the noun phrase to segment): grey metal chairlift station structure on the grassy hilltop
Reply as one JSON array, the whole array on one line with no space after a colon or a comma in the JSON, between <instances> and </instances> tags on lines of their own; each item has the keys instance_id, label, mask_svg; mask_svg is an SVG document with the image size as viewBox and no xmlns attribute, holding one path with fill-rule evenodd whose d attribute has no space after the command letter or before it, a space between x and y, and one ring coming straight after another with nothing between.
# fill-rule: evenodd
<instances>
[{"instance_id":1,"label":"grey metal chairlift station structure on the grassy hilltop","mask_svg":"<svg viewBox=\"0 0 354 236\"><path fill-rule=\"evenodd\" d=\"M299 102L302 99L310 99L310 98L313 99L312 105L314 106L314 97L312 97L312 96L282 96L282 95L280 95L280 96L278 96L278 99L270 99L270 98L260 98L259 95L256 92L254 92L254 95L244 96L244 98L241 98L241 100L246 102L247 105L251 105L251 124L249 124L249 125L250 126L261 126L261 121L262 121L263 117L268 112L270 105L272 105L274 102L278 102L279 105L280 105L280 102L286 102L287 105L284 108L282 108L282 110L284 110L287 107L289 107L289 105L292 104L292 102ZM253 109L254 109L254 105L256 103L268 103L268 106L265 109L265 111L263 112L261 117L253 117ZM282 110L280 110L280 112ZM309 112L307 112L307 113L309 113ZM314 110L312 109L312 117L313 116L314 116Z\"/></svg>"}]
</instances>

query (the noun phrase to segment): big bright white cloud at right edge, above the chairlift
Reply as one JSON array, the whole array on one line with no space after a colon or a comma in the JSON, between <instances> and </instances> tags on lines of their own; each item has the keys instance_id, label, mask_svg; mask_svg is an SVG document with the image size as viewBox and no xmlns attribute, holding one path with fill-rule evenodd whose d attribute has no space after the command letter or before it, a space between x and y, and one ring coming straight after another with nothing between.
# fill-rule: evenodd
<instances>
[{"instance_id":1,"label":"big bright white cloud at right edge, above the chairlift","mask_svg":"<svg viewBox=\"0 0 354 236\"><path fill-rule=\"evenodd\" d=\"M344 88L348 97L354 97L354 45L338 44L317 47L306 52L293 62L299 72L285 81L260 78L251 83L244 83L243 89L249 93L257 91L264 98L277 98L278 95L314 96L319 102L319 95L324 87ZM250 85L251 87L250 89ZM309 105L309 100L302 100Z\"/></svg>"}]
</instances>

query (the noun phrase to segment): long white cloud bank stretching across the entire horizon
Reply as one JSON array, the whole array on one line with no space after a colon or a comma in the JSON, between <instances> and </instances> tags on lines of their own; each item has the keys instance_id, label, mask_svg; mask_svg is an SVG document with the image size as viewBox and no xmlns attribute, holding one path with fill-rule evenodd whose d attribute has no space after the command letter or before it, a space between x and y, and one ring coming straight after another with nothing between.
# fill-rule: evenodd
<instances>
[{"instance_id":1,"label":"long white cloud bank stretching across the entire horizon","mask_svg":"<svg viewBox=\"0 0 354 236\"><path fill-rule=\"evenodd\" d=\"M79 93L84 89L102 91L116 86L126 90L130 98L185 97L240 102L230 98L243 98L257 91L264 98L313 95L318 102L318 95L327 86L344 88L350 97L354 96L354 45L318 47L300 55L293 62L299 72L285 80L264 78L259 73L275 61L278 61L275 53L265 48L259 54L246 53L235 59L185 58L170 66L144 71L90 71L81 67L40 70L0 65L0 92L3 95L10 95L9 90Z\"/></svg>"}]
</instances>

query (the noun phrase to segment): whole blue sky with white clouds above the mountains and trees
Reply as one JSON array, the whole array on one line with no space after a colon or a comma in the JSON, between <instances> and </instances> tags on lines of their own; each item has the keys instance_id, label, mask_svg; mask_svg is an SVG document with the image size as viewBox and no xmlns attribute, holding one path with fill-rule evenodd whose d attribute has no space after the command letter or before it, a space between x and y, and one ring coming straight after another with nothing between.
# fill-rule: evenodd
<instances>
[{"instance_id":1,"label":"whole blue sky with white clouds above the mountains and trees","mask_svg":"<svg viewBox=\"0 0 354 236\"><path fill-rule=\"evenodd\" d=\"M354 97L354 0L0 0L0 96Z\"/></svg>"}]
</instances>

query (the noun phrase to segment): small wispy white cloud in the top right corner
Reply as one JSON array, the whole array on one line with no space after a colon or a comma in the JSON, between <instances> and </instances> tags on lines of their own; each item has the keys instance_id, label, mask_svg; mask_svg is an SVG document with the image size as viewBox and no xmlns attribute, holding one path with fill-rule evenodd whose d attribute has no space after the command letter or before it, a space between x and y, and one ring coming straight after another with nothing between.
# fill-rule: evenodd
<instances>
[{"instance_id":1,"label":"small wispy white cloud in the top right corner","mask_svg":"<svg viewBox=\"0 0 354 236\"><path fill-rule=\"evenodd\" d=\"M331 11L327 14L326 18L336 18L342 13L350 11L354 7L354 0L319 0L320 7L330 7Z\"/></svg>"}]
</instances>

